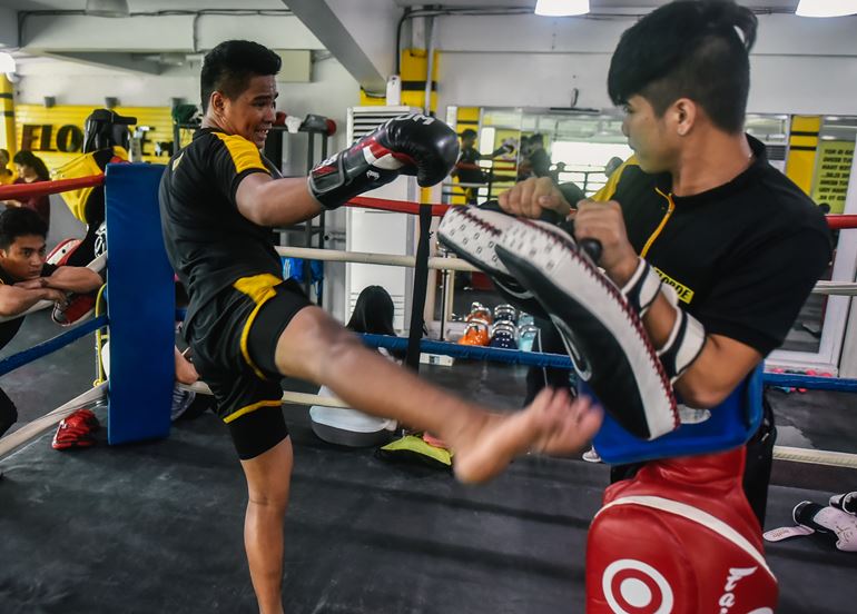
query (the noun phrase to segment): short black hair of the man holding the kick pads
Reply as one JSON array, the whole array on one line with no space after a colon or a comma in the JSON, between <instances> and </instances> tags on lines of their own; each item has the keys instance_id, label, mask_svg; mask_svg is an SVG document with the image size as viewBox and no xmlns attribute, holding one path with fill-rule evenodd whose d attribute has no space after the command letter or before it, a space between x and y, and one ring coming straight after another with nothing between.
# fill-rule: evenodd
<instances>
[{"instance_id":1,"label":"short black hair of the man holding the kick pads","mask_svg":"<svg viewBox=\"0 0 857 614\"><path fill-rule=\"evenodd\" d=\"M733 0L676 0L656 9L619 40L607 80L610 99L624 105L642 96L660 117L687 97L715 126L739 132L757 26L752 11Z\"/></svg>"}]
</instances>

